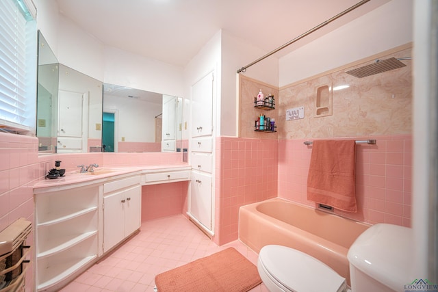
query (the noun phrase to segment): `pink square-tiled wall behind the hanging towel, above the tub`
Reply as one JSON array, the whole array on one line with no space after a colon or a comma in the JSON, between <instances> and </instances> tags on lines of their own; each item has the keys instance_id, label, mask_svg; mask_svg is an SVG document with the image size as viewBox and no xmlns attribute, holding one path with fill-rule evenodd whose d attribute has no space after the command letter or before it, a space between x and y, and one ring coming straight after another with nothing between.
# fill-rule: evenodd
<instances>
[{"instance_id":1,"label":"pink square-tiled wall behind the hanging towel, above the tub","mask_svg":"<svg viewBox=\"0 0 438 292\"><path fill-rule=\"evenodd\" d=\"M370 224L411 226L411 135L352 137L376 139L376 145L356 147L356 196L359 211L335 213ZM305 140L279 141L278 196L315 207L307 200L311 146Z\"/></svg>"}]
</instances>

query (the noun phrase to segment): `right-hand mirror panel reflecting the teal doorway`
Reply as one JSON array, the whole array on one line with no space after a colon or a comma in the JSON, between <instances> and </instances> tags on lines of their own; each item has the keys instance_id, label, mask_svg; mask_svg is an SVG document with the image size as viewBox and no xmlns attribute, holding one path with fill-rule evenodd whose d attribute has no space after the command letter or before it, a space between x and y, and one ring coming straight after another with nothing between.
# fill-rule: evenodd
<instances>
[{"instance_id":1,"label":"right-hand mirror panel reflecting the teal doorway","mask_svg":"<svg viewBox=\"0 0 438 292\"><path fill-rule=\"evenodd\" d=\"M183 98L103 85L105 152L184 151Z\"/></svg>"}]
</instances>

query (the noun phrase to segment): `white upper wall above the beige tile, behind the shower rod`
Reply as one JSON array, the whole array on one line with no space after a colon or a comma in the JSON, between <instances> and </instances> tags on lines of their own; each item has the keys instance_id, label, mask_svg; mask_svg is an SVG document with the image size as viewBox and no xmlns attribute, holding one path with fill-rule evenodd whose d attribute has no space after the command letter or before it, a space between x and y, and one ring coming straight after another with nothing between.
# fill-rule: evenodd
<instances>
[{"instance_id":1,"label":"white upper wall above the beige tile, behind the shower rod","mask_svg":"<svg viewBox=\"0 0 438 292\"><path fill-rule=\"evenodd\" d=\"M279 86L412 42L412 0L392 0L281 57Z\"/></svg>"}]
</instances>

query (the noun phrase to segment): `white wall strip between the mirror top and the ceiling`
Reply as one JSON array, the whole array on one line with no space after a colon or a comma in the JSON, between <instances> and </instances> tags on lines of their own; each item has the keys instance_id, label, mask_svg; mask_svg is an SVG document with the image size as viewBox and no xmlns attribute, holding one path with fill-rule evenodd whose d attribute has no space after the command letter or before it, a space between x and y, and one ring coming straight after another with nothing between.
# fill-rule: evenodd
<instances>
[{"instance_id":1,"label":"white wall strip between the mirror top and the ceiling","mask_svg":"<svg viewBox=\"0 0 438 292\"><path fill-rule=\"evenodd\" d=\"M58 62L105 83L183 96L183 68L106 47L58 12L55 0L35 0L37 25Z\"/></svg>"}]
</instances>

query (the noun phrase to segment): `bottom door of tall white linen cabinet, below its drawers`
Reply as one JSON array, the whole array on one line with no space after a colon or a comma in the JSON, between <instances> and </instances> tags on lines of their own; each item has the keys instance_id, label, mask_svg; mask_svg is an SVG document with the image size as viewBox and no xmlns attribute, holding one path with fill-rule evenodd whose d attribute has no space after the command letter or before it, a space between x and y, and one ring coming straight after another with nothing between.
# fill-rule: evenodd
<instances>
[{"instance_id":1,"label":"bottom door of tall white linen cabinet, below its drawers","mask_svg":"<svg viewBox=\"0 0 438 292\"><path fill-rule=\"evenodd\" d=\"M211 174L192 172L190 213L211 230Z\"/></svg>"}]
</instances>

